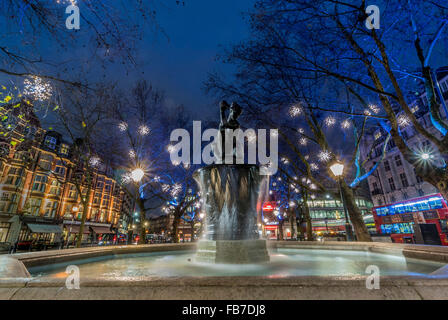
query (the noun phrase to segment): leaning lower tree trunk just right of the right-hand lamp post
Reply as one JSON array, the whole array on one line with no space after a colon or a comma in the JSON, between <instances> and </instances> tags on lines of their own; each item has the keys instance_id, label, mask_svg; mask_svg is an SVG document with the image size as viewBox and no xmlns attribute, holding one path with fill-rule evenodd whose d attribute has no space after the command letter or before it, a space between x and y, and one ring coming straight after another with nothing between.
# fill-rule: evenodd
<instances>
[{"instance_id":1,"label":"leaning lower tree trunk just right of the right-hand lamp post","mask_svg":"<svg viewBox=\"0 0 448 320\"><path fill-rule=\"evenodd\" d=\"M344 180L341 180L341 188L342 196L344 197L345 205L347 207L348 215L353 225L357 241L371 242L372 238L370 237L370 233L364 223L362 213L356 205L353 190L345 183Z\"/></svg>"}]
</instances>

